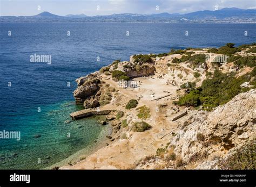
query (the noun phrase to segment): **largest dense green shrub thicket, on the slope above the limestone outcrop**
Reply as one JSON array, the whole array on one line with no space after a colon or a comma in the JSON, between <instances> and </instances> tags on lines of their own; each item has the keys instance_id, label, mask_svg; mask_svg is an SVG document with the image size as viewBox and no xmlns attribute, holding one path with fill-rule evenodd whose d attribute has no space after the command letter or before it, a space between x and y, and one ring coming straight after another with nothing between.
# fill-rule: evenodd
<instances>
[{"instance_id":1,"label":"largest dense green shrub thicket, on the slope above the limestone outcrop","mask_svg":"<svg viewBox=\"0 0 256 187\"><path fill-rule=\"evenodd\" d=\"M253 72L236 78L233 73L223 74L215 70L212 78L207 78L201 87L181 97L177 104L194 107L202 105L204 110L211 111L213 107L223 105L239 93L250 90L250 88L241 88L240 85L250 82ZM253 80L250 84L254 85L255 82Z\"/></svg>"}]
</instances>

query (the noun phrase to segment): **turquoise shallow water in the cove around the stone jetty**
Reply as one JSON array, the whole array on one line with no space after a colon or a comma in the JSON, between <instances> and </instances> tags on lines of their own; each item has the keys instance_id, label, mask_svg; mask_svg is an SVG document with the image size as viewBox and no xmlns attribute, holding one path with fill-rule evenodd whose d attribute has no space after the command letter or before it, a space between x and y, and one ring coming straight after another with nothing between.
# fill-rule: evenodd
<instances>
[{"instance_id":1,"label":"turquoise shallow water in the cove around the stone jetty","mask_svg":"<svg viewBox=\"0 0 256 187\"><path fill-rule=\"evenodd\" d=\"M105 140L109 126L97 123L103 116L72 120L69 114L82 109L73 102L63 102L41 106L41 112L23 110L9 121L7 130L15 125L15 131L21 131L21 140L1 140L1 169L40 169L83 148ZM17 128L18 126L18 128ZM39 138L36 138L35 135ZM68 137L70 136L70 137ZM96 142L97 141L97 142ZM12 150L9 148L12 147ZM79 157L77 157L79 159Z\"/></svg>"}]
</instances>

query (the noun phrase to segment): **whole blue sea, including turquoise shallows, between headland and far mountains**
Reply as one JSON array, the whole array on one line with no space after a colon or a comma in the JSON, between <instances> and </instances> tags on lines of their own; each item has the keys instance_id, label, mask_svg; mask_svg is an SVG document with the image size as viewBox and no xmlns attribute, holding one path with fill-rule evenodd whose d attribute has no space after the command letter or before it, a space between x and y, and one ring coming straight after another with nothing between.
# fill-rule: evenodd
<instances>
[{"instance_id":1,"label":"whole blue sea, including turquoise shallows, between headland and far mountains","mask_svg":"<svg viewBox=\"0 0 256 187\"><path fill-rule=\"evenodd\" d=\"M255 24L0 23L0 131L21 132L19 141L0 139L0 169L43 169L105 140L103 117L69 116L83 109L76 78L132 54L255 41ZM30 62L35 54L51 64Z\"/></svg>"}]
</instances>

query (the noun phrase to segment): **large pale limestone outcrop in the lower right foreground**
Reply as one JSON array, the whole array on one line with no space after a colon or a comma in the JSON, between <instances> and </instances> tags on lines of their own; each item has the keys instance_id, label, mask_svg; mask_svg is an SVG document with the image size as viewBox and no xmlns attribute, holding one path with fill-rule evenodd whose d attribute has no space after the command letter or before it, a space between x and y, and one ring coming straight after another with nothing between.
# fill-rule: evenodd
<instances>
[{"instance_id":1,"label":"large pale limestone outcrop in the lower right foreground","mask_svg":"<svg viewBox=\"0 0 256 187\"><path fill-rule=\"evenodd\" d=\"M171 141L174 151L187 163L201 160L211 168L214 156L225 157L255 137L256 89L240 93L213 112L192 111L188 119L191 124L180 128Z\"/></svg>"}]
</instances>

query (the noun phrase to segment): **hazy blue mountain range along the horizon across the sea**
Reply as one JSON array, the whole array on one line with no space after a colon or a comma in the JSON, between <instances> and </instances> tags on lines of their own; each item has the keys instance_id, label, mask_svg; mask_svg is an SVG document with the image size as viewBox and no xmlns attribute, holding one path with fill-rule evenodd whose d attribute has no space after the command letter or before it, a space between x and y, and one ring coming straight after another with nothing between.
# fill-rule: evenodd
<instances>
[{"instance_id":1,"label":"hazy blue mountain range along the horizon across the sea","mask_svg":"<svg viewBox=\"0 0 256 187\"><path fill-rule=\"evenodd\" d=\"M35 16L1 16L0 22L256 23L256 9L224 8L183 15L164 12L151 15L120 13L108 16L86 16L84 14L58 16L50 12L42 12Z\"/></svg>"}]
</instances>

